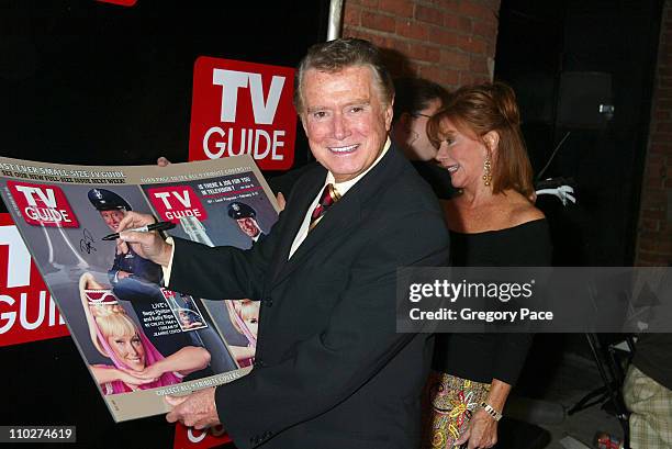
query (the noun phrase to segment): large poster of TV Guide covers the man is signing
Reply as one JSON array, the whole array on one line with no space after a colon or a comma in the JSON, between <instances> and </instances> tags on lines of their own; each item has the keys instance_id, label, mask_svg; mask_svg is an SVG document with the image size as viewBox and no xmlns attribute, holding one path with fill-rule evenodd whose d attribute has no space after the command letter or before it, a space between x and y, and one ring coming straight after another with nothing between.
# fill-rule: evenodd
<instances>
[{"instance_id":1,"label":"large poster of TV Guide covers the man is signing","mask_svg":"<svg viewBox=\"0 0 672 449\"><path fill-rule=\"evenodd\" d=\"M164 396L251 369L258 302L167 290L161 267L115 238L136 211L166 222L170 236L250 248L278 218L251 157L168 167L0 157L0 175L2 200L115 422L166 413Z\"/></svg>"}]
</instances>

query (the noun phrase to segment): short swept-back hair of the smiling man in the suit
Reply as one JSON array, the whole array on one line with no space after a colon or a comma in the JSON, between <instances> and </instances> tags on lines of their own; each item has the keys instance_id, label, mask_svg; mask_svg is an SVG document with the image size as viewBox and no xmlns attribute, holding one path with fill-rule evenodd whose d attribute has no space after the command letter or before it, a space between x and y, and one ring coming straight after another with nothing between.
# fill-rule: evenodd
<instances>
[{"instance_id":1,"label":"short swept-back hair of the smiling man in the suit","mask_svg":"<svg viewBox=\"0 0 672 449\"><path fill-rule=\"evenodd\" d=\"M376 87L384 104L391 104L394 98L394 83L385 67L380 49L369 41L359 38L339 38L311 46L299 64L294 78L294 106L301 114L304 112L303 77L310 69L329 74L349 67L369 67L376 80Z\"/></svg>"}]
</instances>

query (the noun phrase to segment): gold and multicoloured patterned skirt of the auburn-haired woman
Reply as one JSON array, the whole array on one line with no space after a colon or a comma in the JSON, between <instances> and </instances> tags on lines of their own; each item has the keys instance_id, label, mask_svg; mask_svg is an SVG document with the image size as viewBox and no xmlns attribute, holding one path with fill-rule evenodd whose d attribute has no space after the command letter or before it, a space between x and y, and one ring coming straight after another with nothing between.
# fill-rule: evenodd
<instances>
[{"instance_id":1,"label":"gold and multicoloured patterned skirt of the auburn-haired woman","mask_svg":"<svg viewBox=\"0 0 672 449\"><path fill-rule=\"evenodd\" d=\"M489 383L432 371L423 394L423 448L452 448L489 391Z\"/></svg>"}]
</instances>

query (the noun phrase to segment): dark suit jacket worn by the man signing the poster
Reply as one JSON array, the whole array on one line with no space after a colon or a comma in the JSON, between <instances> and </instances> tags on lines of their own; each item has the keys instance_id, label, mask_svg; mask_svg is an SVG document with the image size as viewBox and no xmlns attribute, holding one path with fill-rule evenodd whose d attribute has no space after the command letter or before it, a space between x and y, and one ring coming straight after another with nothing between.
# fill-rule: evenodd
<instances>
[{"instance_id":1,"label":"dark suit jacket worn by the man signing the poster","mask_svg":"<svg viewBox=\"0 0 672 449\"><path fill-rule=\"evenodd\" d=\"M446 265L443 214L392 147L288 261L325 177L306 172L249 250L176 239L170 289L262 301L254 370L216 391L238 448L415 448L433 339L395 333L396 268Z\"/></svg>"}]
</instances>

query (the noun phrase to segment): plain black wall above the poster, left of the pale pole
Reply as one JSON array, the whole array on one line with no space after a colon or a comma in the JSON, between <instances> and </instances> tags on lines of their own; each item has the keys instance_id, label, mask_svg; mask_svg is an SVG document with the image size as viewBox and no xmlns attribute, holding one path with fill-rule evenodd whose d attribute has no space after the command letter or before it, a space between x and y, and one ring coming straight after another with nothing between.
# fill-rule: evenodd
<instances>
[{"instance_id":1,"label":"plain black wall above the poster, left of the pale pole","mask_svg":"<svg viewBox=\"0 0 672 449\"><path fill-rule=\"evenodd\" d=\"M0 153L63 164L186 160L195 58L293 67L324 40L327 5L1 0Z\"/></svg>"}]
</instances>

